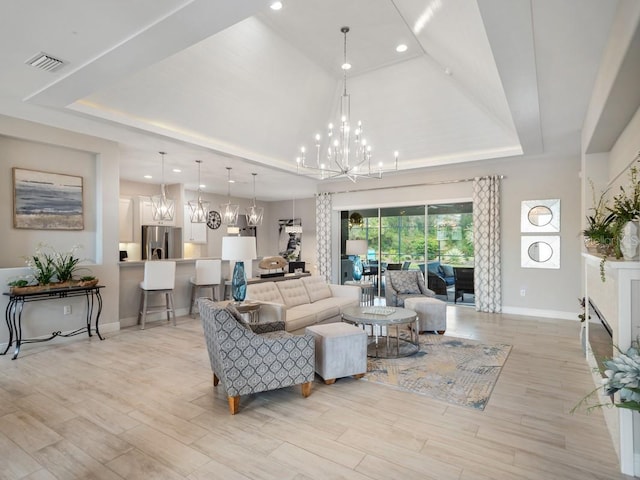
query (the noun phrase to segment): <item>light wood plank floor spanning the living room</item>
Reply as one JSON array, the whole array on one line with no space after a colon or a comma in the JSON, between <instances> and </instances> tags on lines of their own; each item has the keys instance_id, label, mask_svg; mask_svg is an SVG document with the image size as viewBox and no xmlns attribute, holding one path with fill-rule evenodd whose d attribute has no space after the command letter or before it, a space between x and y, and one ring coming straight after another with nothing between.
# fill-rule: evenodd
<instances>
[{"instance_id":1,"label":"light wood plank floor spanning the living room","mask_svg":"<svg viewBox=\"0 0 640 480\"><path fill-rule=\"evenodd\" d=\"M364 380L242 397L231 416L199 319L0 357L0 478L623 479L577 322L449 307L447 335L513 349L484 411Z\"/></svg>"}]
</instances>

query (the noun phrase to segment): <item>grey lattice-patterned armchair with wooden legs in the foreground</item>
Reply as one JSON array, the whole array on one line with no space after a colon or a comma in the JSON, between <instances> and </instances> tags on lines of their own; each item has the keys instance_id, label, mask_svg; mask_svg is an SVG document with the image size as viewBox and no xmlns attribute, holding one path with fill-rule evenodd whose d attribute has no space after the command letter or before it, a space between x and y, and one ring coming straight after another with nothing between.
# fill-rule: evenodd
<instances>
[{"instance_id":1,"label":"grey lattice-patterned armchair with wooden legs in the foreground","mask_svg":"<svg viewBox=\"0 0 640 480\"><path fill-rule=\"evenodd\" d=\"M302 395L309 396L315 376L312 335L287 333L284 322L249 325L231 304L220 308L201 298L198 307L213 386L222 382L231 415L238 412L240 395L302 384Z\"/></svg>"}]
</instances>

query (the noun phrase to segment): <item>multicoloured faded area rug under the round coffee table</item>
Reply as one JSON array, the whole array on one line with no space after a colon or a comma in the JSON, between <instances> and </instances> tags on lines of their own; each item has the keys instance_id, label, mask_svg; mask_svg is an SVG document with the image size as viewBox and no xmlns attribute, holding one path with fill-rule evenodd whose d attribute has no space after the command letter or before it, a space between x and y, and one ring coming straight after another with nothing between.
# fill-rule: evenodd
<instances>
[{"instance_id":1,"label":"multicoloured faded area rug under the round coffee table","mask_svg":"<svg viewBox=\"0 0 640 480\"><path fill-rule=\"evenodd\" d=\"M365 379L454 405L484 410L511 345L486 345L447 335L420 335L420 351L369 358Z\"/></svg>"}]
</instances>

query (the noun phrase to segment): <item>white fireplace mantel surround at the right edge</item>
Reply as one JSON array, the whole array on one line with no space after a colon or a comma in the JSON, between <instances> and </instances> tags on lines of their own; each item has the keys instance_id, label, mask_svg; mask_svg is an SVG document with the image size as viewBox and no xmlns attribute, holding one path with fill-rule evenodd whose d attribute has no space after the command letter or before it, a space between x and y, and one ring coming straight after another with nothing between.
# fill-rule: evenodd
<instances>
[{"instance_id":1,"label":"white fireplace mantel surround at the right edge","mask_svg":"<svg viewBox=\"0 0 640 480\"><path fill-rule=\"evenodd\" d=\"M603 282L600 274L602 257L587 253L582 255L585 260L586 305L589 305L589 301L597 305L611 327L613 344L626 350L640 336L640 262L607 259ZM588 311L586 313L589 314ZM589 322L586 325L589 338ZM590 347L587 348L587 360L595 364ZM600 386L600 382L597 386ZM624 408L605 412L607 426L620 459L620 470L627 475L640 475L639 417L637 413Z\"/></svg>"}]
</instances>

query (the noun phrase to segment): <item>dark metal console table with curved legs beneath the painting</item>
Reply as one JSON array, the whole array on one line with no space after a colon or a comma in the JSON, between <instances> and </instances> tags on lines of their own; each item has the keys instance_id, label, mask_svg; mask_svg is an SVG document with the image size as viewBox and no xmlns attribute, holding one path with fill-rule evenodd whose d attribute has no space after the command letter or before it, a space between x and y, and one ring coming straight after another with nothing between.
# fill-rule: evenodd
<instances>
[{"instance_id":1,"label":"dark metal console table with curved legs beneath the painting","mask_svg":"<svg viewBox=\"0 0 640 480\"><path fill-rule=\"evenodd\" d=\"M6 355L14 342L16 344L16 349L11 360L18 358L20 346L23 343L47 342L55 337L72 337L84 332L87 332L89 337L91 337L91 320L93 318L94 307L96 310L96 335L98 335L100 340L104 340L102 335L100 335L100 330L98 328L100 313L102 312L102 296L100 295L100 289L102 288L104 288L104 286L94 285L91 287L52 288L50 290L22 294L5 292L4 295L9 297L9 304L5 311L5 320L7 322L7 328L9 329L9 341L7 342L7 348L4 352L0 353L0 355ZM25 303L82 296L87 300L86 325L70 333L62 333L60 331L52 332L51 336L47 338L22 338L22 311Z\"/></svg>"}]
</instances>

